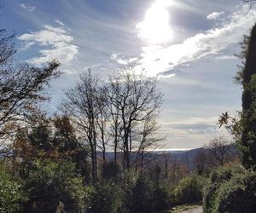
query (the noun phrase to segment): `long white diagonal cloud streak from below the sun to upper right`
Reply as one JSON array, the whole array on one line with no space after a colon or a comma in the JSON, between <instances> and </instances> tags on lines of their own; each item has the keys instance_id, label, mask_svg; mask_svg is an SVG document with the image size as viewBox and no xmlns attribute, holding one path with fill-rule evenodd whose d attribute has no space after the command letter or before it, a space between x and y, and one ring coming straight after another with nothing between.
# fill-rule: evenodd
<instances>
[{"instance_id":1,"label":"long white diagonal cloud streak from below the sun to upper right","mask_svg":"<svg viewBox=\"0 0 256 213\"><path fill-rule=\"evenodd\" d=\"M241 6L230 15L230 20L220 27L188 37L183 43L142 47L140 66L145 68L150 76L156 76L184 63L218 55L222 50L241 42L242 36L253 26L255 20L256 9L247 12L247 8Z\"/></svg>"}]
</instances>

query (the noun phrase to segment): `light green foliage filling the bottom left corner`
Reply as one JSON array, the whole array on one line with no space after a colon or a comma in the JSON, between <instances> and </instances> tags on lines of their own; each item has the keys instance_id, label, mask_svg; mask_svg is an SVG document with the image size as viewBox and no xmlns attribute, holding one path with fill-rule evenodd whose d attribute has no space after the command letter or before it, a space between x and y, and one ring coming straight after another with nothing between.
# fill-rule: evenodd
<instances>
[{"instance_id":1,"label":"light green foliage filling the bottom left corner","mask_svg":"<svg viewBox=\"0 0 256 213\"><path fill-rule=\"evenodd\" d=\"M0 212L17 212L25 201L26 193L21 181L11 176L9 170L0 162Z\"/></svg>"}]
</instances>

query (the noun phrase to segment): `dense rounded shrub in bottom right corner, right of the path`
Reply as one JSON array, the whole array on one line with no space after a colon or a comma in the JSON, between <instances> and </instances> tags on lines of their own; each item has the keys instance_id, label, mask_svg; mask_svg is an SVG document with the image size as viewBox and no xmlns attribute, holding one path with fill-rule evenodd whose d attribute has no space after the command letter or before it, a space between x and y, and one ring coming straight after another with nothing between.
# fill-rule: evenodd
<instances>
[{"instance_id":1,"label":"dense rounded shrub in bottom right corner, right of the path","mask_svg":"<svg viewBox=\"0 0 256 213\"><path fill-rule=\"evenodd\" d=\"M256 209L256 173L241 165L212 172L204 192L204 211L254 212Z\"/></svg>"}]
</instances>

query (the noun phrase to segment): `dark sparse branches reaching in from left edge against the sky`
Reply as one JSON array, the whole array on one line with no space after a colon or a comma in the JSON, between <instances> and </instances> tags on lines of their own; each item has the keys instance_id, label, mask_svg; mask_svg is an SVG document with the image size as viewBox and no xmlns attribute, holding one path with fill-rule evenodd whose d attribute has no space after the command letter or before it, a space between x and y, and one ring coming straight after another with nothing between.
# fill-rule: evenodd
<instances>
[{"instance_id":1,"label":"dark sparse branches reaching in from left edge against the sky","mask_svg":"<svg viewBox=\"0 0 256 213\"><path fill-rule=\"evenodd\" d=\"M56 60L46 66L34 67L18 63L13 58L15 46L13 36L0 30L0 136L9 136L26 124L32 116L38 101L49 99L45 86L52 78L59 76Z\"/></svg>"}]
</instances>

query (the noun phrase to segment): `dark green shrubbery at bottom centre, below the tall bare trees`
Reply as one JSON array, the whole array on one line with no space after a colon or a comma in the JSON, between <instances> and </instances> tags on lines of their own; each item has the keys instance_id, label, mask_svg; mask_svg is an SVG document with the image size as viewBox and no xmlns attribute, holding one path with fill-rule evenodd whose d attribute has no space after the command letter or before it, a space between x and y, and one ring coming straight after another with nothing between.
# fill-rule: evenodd
<instances>
[{"instance_id":1,"label":"dark green shrubbery at bottom centre, below the tall bare trees","mask_svg":"<svg viewBox=\"0 0 256 213\"><path fill-rule=\"evenodd\" d=\"M148 174L131 170L116 178L99 181L90 193L89 212L156 212L166 210L172 203L172 191L156 183Z\"/></svg>"}]
</instances>

